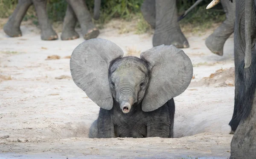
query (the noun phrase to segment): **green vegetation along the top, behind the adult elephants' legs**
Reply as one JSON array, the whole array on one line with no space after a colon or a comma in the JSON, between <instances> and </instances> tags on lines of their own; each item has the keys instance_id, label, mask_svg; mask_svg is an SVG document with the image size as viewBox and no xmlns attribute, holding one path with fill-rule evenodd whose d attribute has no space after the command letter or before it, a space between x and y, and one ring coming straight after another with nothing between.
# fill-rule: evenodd
<instances>
[{"instance_id":1,"label":"green vegetation along the top, behind the adult elephants' legs","mask_svg":"<svg viewBox=\"0 0 256 159\"><path fill-rule=\"evenodd\" d=\"M189 9L196 0L177 0L178 14L183 14L186 9ZM206 6L211 0L204 0L189 15L180 21L181 26L198 28L209 28L213 23L219 23L225 19L224 11L220 4L213 9L206 10ZM94 0L86 0L88 9L93 14ZM93 20L99 28L102 28L105 23L108 23L112 18L121 18L122 20L131 21L137 19L136 33L143 34L150 30L150 26L145 22L141 13L140 7L143 0L102 0L100 19ZM17 5L17 0L0 0L0 18L9 17ZM48 0L47 12L49 19L52 22L63 21L67 9L66 0ZM38 20L35 14L34 7L30 7L26 13L24 20L32 20L35 25L38 25Z\"/></svg>"}]
</instances>

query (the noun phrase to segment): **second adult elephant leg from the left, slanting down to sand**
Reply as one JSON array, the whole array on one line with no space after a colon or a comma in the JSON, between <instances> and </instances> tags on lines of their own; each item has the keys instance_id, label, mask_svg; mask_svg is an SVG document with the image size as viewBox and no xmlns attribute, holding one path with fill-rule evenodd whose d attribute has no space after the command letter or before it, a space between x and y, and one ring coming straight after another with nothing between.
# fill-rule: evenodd
<instances>
[{"instance_id":1,"label":"second adult elephant leg from the left, slanting down to sand","mask_svg":"<svg viewBox=\"0 0 256 159\"><path fill-rule=\"evenodd\" d=\"M56 40L58 35L52 29L52 25L48 19L46 5L47 0L32 0L35 6L35 11L38 16L39 25L41 28L42 40Z\"/></svg>"}]
</instances>

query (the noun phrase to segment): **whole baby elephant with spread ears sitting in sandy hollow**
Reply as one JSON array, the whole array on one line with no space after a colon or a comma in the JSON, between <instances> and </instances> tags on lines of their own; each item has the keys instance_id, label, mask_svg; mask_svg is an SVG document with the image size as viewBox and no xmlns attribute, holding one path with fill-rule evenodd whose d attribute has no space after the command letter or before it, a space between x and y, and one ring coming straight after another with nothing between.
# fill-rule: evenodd
<instances>
[{"instance_id":1,"label":"whole baby elephant with spread ears sitting in sandy hollow","mask_svg":"<svg viewBox=\"0 0 256 159\"><path fill-rule=\"evenodd\" d=\"M173 45L160 45L137 57L122 57L116 44L91 39L70 59L73 81L99 105L90 138L173 137L173 98L188 87L189 57Z\"/></svg>"}]
</instances>

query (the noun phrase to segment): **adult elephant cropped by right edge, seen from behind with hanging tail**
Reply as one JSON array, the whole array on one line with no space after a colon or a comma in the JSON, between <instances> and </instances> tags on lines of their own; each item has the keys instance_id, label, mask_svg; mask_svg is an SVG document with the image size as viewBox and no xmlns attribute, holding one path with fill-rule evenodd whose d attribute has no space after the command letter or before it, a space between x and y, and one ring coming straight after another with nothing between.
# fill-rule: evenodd
<instances>
[{"instance_id":1,"label":"adult elephant cropped by right edge, seen from behind with hanging tail","mask_svg":"<svg viewBox=\"0 0 256 159\"><path fill-rule=\"evenodd\" d=\"M207 8L214 6L219 1L213 0ZM234 31L235 105L230 121L231 128L235 133L231 141L230 159L254 159L256 156L255 43L256 0L238 0Z\"/></svg>"}]
</instances>

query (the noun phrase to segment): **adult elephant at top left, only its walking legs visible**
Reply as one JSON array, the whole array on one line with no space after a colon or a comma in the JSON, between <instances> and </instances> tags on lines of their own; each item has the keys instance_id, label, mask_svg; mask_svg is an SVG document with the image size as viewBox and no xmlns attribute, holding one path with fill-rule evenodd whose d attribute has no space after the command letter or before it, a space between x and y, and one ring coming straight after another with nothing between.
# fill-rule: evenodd
<instances>
[{"instance_id":1,"label":"adult elephant at top left, only its walking legs visible","mask_svg":"<svg viewBox=\"0 0 256 159\"><path fill-rule=\"evenodd\" d=\"M76 39L79 34L75 31L77 20L79 21L82 34L85 39L95 38L99 35L99 30L93 25L90 12L84 0L67 0L67 11L64 18L64 27L61 34L62 40ZM101 0L95 0L94 18L99 19L99 7ZM58 35L52 29L52 25L47 16L47 0L18 0L18 4L9 17L8 22L4 25L4 32L10 37L20 37L20 23L29 7L34 4L41 28L42 40L56 40Z\"/></svg>"}]
</instances>

